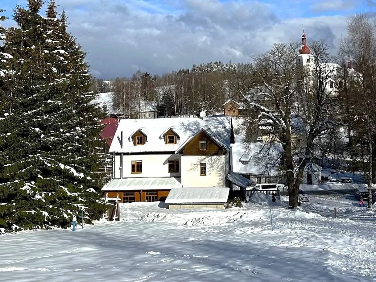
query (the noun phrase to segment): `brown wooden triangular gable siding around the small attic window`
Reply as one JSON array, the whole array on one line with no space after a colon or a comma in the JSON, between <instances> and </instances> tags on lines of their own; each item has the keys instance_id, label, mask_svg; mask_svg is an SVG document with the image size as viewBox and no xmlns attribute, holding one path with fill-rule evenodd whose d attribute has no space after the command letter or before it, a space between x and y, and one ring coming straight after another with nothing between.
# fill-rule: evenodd
<instances>
[{"instance_id":1,"label":"brown wooden triangular gable siding around the small attic window","mask_svg":"<svg viewBox=\"0 0 376 282\"><path fill-rule=\"evenodd\" d=\"M206 150L200 150L200 141L206 141ZM212 141L212 139L203 131L197 134L183 148L184 156L214 156L224 154L224 150L215 144L214 141Z\"/></svg>"}]
</instances>

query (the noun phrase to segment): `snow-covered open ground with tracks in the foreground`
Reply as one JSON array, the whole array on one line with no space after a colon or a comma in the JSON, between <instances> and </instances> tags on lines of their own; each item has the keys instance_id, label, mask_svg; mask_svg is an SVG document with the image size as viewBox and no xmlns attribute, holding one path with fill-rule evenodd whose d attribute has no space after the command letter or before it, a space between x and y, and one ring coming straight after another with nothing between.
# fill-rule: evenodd
<instances>
[{"instance_id":1,"label":"snow-covered open ground with tracks in the foreground","mask_svg":"<svg viewBox=\"0 0 376 282\"><path fill-rule=\"evenodd\" d=\"M122 205L120 222L3 235L0 281L376 281L375 210L351 196L265 205L133 203L129 222Z\"/></svg>"}]
</instances>

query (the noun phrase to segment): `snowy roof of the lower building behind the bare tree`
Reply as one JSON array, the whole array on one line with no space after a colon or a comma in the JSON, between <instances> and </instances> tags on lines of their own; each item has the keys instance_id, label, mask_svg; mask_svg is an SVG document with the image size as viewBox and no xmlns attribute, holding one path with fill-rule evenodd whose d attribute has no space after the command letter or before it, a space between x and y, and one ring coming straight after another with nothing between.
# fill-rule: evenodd
<instances>
[{"instance_id":1,"label":"snowy roof of the lower building behind the bare tree","mask_svg":"<svg viewBox=\"0 0 376 282\"><path fill-rule=\"evenodd\" d=\"M270 150L268 148L270 147ZM261 151L262 150L262 151ZM266 153L265 150L268 150ZM278 143L234 143L232 144L232 171L242 174L277 175L279 162L277 162L282 147ZM261 153L260 153L261 152ZM264 156L267 155L267 156ZM264 156L260 159L260 156ZM243 162L249 161L246 164Z\"/></svg>"}]
</instances>

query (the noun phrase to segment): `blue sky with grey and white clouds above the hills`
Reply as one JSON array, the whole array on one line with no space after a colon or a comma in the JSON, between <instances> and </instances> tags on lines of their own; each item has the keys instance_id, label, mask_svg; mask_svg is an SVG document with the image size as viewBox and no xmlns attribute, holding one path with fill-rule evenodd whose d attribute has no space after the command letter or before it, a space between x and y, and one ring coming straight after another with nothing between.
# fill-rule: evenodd
<instances>
[{"instance_id":1,"label":"blue sky with grey and white clouds above the hills","mask_svg":"<svg viewBox=\"0 0 376 282\"><path fill-rule=\"evenodd\" d=\"M11 17L16 4L2 0ZM325 39L333 55L356 12L374 15L376 0L56 0L69 31L105 79L137 70L163 74L209 61L250 61L274 42ZM42 8L42 13L45 8ZM15 25L7 20L4 26Z\"/></svg>"}]
</instances>

